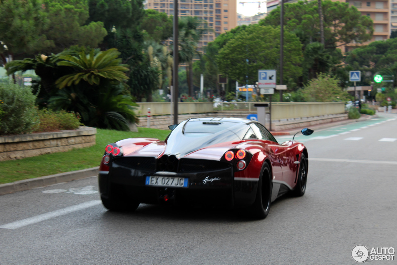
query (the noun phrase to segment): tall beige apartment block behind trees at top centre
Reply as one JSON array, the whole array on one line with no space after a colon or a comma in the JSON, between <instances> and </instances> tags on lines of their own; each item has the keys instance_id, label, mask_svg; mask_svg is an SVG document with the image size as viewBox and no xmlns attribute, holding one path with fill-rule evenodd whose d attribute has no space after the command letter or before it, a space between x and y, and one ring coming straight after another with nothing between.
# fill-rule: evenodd
<instances>
[{"instance_id":1,"label":"tall beige apartment block behind trees at top centre","mask_svg":"<svg viewBox=\"0 0 397 265\"><path fill-rule=\"evenodd\" d=\"M173 0L146 0L145 9L173 15ZM178 16L192 16L208 23L214 32L204 34L198 42L198 47L208 44L217 36L237 27L237 2L235 0L179 0Z\"/></svg>"}]
</instances>

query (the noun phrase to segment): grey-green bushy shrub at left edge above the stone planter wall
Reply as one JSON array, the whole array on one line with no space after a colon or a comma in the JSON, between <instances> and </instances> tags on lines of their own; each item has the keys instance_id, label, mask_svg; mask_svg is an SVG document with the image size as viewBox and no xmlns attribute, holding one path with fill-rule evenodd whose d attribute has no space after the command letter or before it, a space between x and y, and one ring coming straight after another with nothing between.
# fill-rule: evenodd
<instances>
[{"instance_id":1,"label":"grey-green bushy shrub at left edge above the stone planter wall","mask_svg":"<svg viewBox=\"0 0 397 265\"><path fill-rule=\"evenodd\" d=\"M36 96L30 87L9 82L0 83L0 134L31 133L37 125Z\"/></svg>"}]
</instances>

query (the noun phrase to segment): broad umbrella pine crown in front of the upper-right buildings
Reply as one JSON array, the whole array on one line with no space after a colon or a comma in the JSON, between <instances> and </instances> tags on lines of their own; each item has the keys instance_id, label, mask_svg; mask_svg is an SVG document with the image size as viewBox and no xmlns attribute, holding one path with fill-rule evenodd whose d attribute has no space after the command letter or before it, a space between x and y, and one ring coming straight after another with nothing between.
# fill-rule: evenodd
<instances>
[{"instance_id":1,"label":"broad umbrella pine crown in front of the upper-right buildings","mask_svg":"<svg viewBox=\"0 0 397 265\"><path fill-rule=\"evenodd\" d=\"M335 48L347 43L363 43L372 37L373 22L368 16L349 3L324 0L321 3L324 14L325 48ZM285 4L284 19L286 31L300 31L304 36L303 44L313 41L321 43L318 2L299 1ZM277 26L280 23L280 7L273 10L259 25Z\"/></svg>"}]
</instances>

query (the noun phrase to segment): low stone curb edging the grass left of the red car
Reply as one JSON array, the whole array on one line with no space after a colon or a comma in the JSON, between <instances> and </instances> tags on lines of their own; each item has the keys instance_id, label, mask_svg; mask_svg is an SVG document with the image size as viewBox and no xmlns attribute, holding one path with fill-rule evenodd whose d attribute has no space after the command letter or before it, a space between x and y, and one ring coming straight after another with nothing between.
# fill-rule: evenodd
<instances>
[{"instance_id":1,"label":"low stone curb edging the grass left of the red car","mask_svg":"<svg viewBox=\"0 0 397 265\"><path fill-rule=\"evenodd\" d=\"M24 179L11 183L0 184L0 195L14 193L17 191L27 191L29 189L45 187L52 184L63 183L76 179L84 179L98 175L99 167L87 168L84 170L59 173L44 177L35 177L33 179Z\"/></svg>"}]
</instances>

